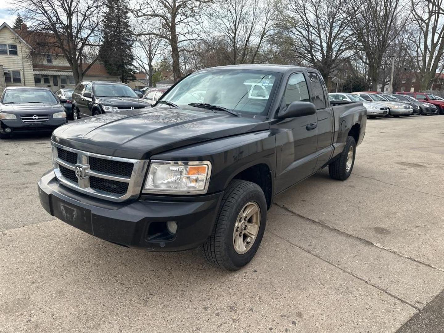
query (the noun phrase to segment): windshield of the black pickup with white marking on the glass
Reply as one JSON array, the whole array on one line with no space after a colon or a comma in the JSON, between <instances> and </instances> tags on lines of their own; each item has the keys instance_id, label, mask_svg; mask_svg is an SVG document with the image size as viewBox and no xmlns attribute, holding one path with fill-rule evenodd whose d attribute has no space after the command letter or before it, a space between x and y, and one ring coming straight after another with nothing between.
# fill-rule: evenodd
<instances>
[{"instance_id":1,"label":"windshield of the black pickup with white marking on the glass","mask_svg":"<svg viewBox=\"0 0 444 333\"><path fill-rule=\"evenodd\" d=\"M242 115L266 115L280 77L275 72L242 69L199 71L180 81L162 100L179 107L207 103Z\"/></svg>"}]
</instances>

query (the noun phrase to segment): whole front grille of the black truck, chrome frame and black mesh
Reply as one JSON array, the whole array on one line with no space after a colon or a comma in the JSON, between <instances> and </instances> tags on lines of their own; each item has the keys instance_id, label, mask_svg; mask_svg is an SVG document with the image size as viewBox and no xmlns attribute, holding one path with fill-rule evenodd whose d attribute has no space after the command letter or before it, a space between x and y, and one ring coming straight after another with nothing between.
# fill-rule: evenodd
<instances>
[{"instance_id":1,"label":"whole front grille of the black truck, chrome frame and black mesh","mask_svg":"<svg viewBox=\"0 0 444 333\"><path fill-rule=\"evenodd\" d=\"M143 185L147 160L124 159L63 147L52 142L54 173L63 185L97 198L136 198Z\"/></svg>"}]
</instances>

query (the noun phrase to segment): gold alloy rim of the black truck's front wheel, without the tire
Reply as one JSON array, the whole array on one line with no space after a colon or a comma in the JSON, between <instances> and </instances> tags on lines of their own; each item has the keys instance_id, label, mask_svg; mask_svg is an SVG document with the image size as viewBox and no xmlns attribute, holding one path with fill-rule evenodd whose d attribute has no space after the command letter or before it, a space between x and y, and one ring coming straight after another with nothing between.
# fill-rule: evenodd
<instances>
[{"instance_id":1,"label":"gold alloy rim of the black truck's front wheel, without the tire","mask_svg":"<svg viewBox=\"0 0 444 333\"><path fill-rule=\"evenodd\" d=\"M250 250L258 236L260 225L261 209L256 202L250 201L242 207L234 223L233 246L238 254Z\"/></svg>"}]
</instances>

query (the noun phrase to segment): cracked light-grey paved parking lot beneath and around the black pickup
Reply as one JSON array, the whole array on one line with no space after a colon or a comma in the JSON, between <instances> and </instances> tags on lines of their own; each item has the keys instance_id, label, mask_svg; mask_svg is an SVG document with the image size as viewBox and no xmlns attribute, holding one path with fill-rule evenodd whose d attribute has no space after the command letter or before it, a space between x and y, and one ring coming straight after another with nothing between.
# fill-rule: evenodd
<instances>
[{"instance_id":1,"label":"cracked light-grey paved parking lot beneath and around the black pickup","mask_svg":"<svg viewBox=\"0 0 444 333\"><path fill-rule=\"evenodd\" d=\"M40 206L49 136L0 141L0 332L442 332L444 116L369 119L345 182L275 198L242 270L107 243Z\"/></svg>"}]
</instances>

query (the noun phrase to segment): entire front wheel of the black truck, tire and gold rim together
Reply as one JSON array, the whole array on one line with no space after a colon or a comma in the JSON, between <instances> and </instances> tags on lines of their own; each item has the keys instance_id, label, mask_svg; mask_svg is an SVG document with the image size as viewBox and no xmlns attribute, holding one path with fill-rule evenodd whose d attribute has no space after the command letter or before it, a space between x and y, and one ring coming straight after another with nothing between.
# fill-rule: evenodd
<instances>
[{"instance_id":1,"label":"entire front wheel of the black truck, tire and gold rim together","mask_svg":"<svg viewBox=\"0 0 444 333\"><path fill-rule=\"evenodd\" d=\"M261 244L266 219L262 189L253 182L234 179L222 198L213 232L203 244L205 257L225 270L245 266Z\"/></svg>"}]
</instances>

